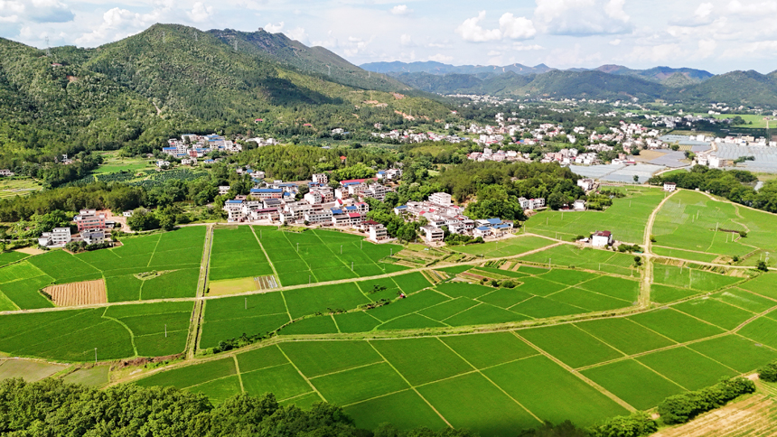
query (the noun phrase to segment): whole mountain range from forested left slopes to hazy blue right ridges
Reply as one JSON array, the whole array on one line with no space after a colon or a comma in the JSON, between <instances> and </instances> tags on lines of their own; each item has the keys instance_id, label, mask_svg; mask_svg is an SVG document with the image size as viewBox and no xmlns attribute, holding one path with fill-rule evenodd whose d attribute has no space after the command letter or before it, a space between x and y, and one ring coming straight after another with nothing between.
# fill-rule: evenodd
<instances>
[{"instance_id":1,"label":"whole mountain range from forested left slopes to hazy blue right ridges","mask_svg":"<svg viewBox=\"0 0 777 437\"><path fill-rule=\"evenodd\" d=\"M456 92L777 107L777 72L391 65L365 70L280 33L178 24L93 49L0 38L0 168L80 151L147 153L184 131L314 136L398 125L409 113L445 119L454 107L439 95Z\"/></svg>"}]
</instances>

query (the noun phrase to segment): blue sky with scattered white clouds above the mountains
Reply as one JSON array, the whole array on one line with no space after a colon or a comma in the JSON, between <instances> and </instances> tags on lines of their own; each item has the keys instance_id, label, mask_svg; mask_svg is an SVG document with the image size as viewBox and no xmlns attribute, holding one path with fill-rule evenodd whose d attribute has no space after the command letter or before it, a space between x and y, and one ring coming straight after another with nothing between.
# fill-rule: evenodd
<instances>
[{"instance_id":1,"label":"blue sky with scattered white clouds above the mountains","mask_svg":"<svg viewBox=\"0 0 777 437\"><path fill-rule=\"evenodd\" d=\"M95 47L154 23L283 32L356 64L777 70L777 0L0 0L0 36Z\"/></svg>"}]
</instances>

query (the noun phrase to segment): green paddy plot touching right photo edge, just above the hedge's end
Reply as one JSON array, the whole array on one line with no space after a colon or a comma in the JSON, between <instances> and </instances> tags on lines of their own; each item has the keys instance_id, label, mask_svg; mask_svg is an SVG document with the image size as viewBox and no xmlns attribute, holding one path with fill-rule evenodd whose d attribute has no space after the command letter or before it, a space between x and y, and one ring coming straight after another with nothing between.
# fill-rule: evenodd
<instances>
[{"instance_id":1,"label":"green paddy plot touching right photo edge, just above the hedge's end","mask_svg":"<svg viewBox=\"0 0 777 437\"><path fill-rule=\"evenodd\" d=\"M707 339L688 345L688 348L740 373L755 370L777 358L777 350L738 335Z\"/></svg>"}]
</instances>

